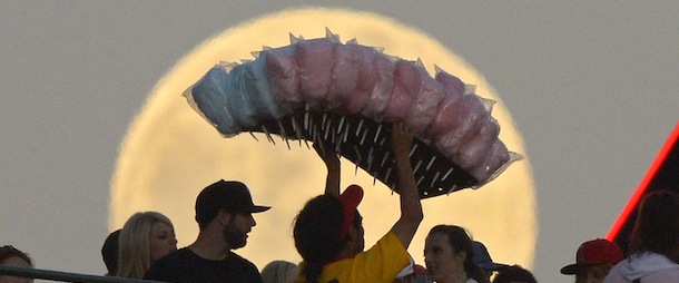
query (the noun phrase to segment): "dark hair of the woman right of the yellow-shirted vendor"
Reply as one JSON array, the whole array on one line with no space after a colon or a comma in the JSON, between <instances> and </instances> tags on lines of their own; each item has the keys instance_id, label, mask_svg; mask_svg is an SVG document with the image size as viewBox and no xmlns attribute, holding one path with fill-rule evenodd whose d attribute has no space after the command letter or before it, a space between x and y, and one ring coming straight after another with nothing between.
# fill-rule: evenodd
<instances>
[{"instance_id":1,"label":"dark hair of the woman right of the yellow-shirted vendor","mask_svg":"<svg viewBox=\"0 0 679 283\"><path fill-rule=\"evenodd\" d=\"M429 235L432 234L444 234L451 246L453 247L453 253L457 254L460 252L466 253L466 258L464 258L464 272L466 276L473 279L480 283L489 282L488 276L473 260L474 257L474 247L472 245L472 238L466 233L463 227L455 225L436 225L430 232Z\"/></svg>"}]
</instances>

